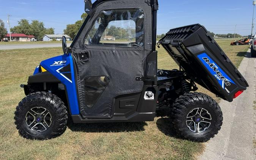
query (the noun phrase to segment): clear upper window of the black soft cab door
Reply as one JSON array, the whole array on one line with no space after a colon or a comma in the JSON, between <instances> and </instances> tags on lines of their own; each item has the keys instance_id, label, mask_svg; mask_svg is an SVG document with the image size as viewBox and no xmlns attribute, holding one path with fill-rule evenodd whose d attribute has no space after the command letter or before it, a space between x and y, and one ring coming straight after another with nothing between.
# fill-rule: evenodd
<instances>
[{"instance_id":1,"label":"clear upper window of the black soft cab door","mask_svg":"<svg viewBox=\"0 0 256 160\"><path fill-rule=\"evenodd\" d=\"M86 36L85 44L143 47L143 11L141 9L112 9L102 11Z\"/></svg>"}]
</instances>

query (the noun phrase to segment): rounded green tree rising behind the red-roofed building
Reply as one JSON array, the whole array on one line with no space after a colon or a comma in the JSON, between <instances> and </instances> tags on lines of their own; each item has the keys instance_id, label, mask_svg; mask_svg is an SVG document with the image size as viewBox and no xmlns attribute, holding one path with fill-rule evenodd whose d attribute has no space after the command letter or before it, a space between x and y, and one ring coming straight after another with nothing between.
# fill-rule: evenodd
<instances>
[{"instance_id":1,"label":"rounded green tree rising behind the red-roofed building","mask_svg":"<svg viewBox=\"0 0 256 160\"><path fill-rule=\"evenodd\" d=\"M23 33L25 35L31 35L31 27L27 19L21 19L18 21L18 25L11 28L12 33Z\"/></svg>"}]
</instances>

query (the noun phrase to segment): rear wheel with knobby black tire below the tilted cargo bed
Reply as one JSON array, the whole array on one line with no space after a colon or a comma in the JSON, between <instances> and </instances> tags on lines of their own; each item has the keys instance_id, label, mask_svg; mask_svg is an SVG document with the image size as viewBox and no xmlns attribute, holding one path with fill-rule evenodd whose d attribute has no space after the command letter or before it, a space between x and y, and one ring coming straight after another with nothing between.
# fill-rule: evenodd
<instances>
[{"instance_id":1,"label":"rear wheel with knobby black tire below the tilted cargo bed","mask_svg":"<svg viewBox=\"0 0 256 160\"><path fill-rule=\"evenodd\" d=\"M217 102L206 94L196 92L185 93L176 99L171 116L178 136L198 142L206 142L213 138L223 121Z\"/></svg>"}]
</instances>

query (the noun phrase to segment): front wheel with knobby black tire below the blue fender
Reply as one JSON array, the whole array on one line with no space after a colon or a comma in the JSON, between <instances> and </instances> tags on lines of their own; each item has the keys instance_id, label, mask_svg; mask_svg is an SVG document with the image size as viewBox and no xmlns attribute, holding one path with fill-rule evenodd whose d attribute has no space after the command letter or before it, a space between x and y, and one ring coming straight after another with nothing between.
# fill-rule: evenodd
<instances>
[{"instance_id":1,"label":"front wheel with knobby black tire below the blue fender","mask_svg":"<svg viewBox=\"0 0 256 160\"><path fill-rule=\"evenodd\" d=\"M14 115L19 134L27 139L55 138L67 127L66 106L59 97L47 92L26 96L19 102Z\"/></svg>"}]
</instances>

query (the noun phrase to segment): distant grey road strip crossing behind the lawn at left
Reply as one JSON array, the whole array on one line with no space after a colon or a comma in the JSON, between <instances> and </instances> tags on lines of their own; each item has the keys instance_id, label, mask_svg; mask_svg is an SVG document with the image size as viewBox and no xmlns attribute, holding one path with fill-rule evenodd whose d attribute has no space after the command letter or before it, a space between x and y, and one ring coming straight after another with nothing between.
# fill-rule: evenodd
<instances>
[{"instance_id":1,"label":"distant grey road strip crossing behind the lawn at left","mask_svg":"<svg viewBox=\"0 0 256 160\"><path fill-rule=\"evenodd\" d=\"M67 44L68 46L71 43ZM48 47L61 47L61 43L52 43L52 44L6 44L0 45L0 50L5 49L31 49L31 48L48 48Z\"/></svg>"}]
</instances>

